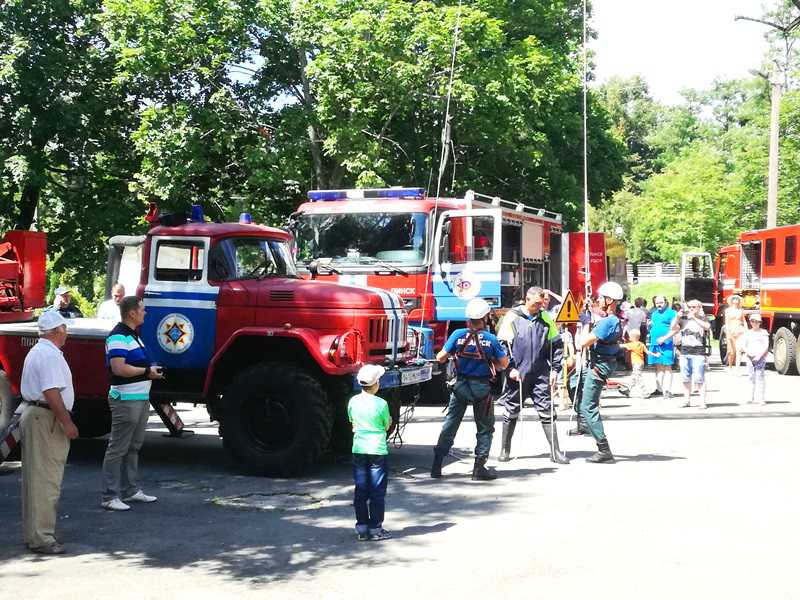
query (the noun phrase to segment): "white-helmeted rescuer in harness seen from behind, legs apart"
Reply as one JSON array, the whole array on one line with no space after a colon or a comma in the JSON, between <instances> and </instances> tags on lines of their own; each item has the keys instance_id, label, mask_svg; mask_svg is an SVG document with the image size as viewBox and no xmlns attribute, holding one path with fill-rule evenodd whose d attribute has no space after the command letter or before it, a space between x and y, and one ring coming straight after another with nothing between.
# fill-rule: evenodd
<instances>
[{"instance_id":1,"label":"white-helmeted rescuer in harness seen from behind, legs apart","mask_svg":"<svg viewBox=\"0 0 800 600\"><path fill-rule=\"evenodd\" d=\"M466 307L468 327L451 333L444 348L436 355L436 360L441 363L447 362L450 356L456 357L456 380L450 393L439 441L433 448L431 477L442 476L442 461L453 447L453 440L464 418L467 404L472 404L472 414L478 430L472 479L488 481L496 477L486 468L494 433L491 379L496 371L508 366L508 357L494 334L486 331L486 318L490 312L491 307L486 300L470 300Z\"/></svg>"}]
</instances>

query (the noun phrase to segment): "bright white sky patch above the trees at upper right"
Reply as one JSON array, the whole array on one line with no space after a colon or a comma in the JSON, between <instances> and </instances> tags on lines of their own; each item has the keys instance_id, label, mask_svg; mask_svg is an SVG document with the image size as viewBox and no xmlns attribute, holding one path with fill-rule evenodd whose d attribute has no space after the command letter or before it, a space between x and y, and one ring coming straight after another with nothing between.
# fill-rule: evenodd
<instances>
[{"instance_id":1,"label":"bright white sky patch above the trees at upper right","mask_svg":"<svg viewBox=\"0 0 800 600\"><path fill-rule=\"evenodd\" d=\"M684 88L748 77L761 66L767 28L734 21L761 16L759 0L594 0L592 44L600 83L641 74L656 100L681 101Z\"/></svg>"}]
</instances>

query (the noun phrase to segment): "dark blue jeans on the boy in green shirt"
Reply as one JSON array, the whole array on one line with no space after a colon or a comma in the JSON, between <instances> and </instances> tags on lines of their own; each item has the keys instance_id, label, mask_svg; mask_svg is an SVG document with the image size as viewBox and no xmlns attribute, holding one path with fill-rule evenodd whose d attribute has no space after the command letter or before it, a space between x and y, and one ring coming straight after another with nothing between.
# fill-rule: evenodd
<instances>
[{"instance_id":1,"label":"dark blue jeans on the boy in green shirt","mask_svg":"<svg viewBox=\"0 0 800 600\"><path fill-rule=\"evenodd\" d=\"M353 508L359 533L380 530L383 526L389 483L387 458L378 454L353 454L353 481L356 483Z\"/></svg>"}]
</instances>

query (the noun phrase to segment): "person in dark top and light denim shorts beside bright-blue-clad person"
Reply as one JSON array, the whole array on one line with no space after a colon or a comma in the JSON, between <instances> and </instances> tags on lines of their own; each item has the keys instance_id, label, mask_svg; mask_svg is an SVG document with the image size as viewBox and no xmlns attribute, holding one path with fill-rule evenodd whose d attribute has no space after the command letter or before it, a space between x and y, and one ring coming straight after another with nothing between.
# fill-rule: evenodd
<instances>
[{"instance_id":1,"label":"person in dark top and light denim shorts beside bright-blue-clad person","mask_svg":"<svg viewBox=\"0 0 800 600\"><path fill-rule=\"evenodd\" d=\"M706 408L706 338L711 329L708 317L703 314L699 300L690 300L673 319L668 334L658 338L663 344L680 334L680 370L683 378L683 408L688 408L692 384L700 392L700 408Z\"/></svg>"}]
</instances>

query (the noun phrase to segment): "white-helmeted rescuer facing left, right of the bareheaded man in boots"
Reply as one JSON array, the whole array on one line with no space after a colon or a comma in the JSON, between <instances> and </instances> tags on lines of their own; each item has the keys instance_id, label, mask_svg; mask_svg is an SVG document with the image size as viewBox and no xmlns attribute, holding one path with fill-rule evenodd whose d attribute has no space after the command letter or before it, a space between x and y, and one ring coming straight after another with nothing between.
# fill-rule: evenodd
<instances>
[{"instance_id":1,"label":"white-helmeted rescuer facing left, right of the bareheaded man in boots","mask_svg":"<svg viewBox=\"0 0 800 600\"><path fill-rule=\"evenodd\" d=\"M597 452L586 460L594 463L614 462L614 455L603 430L600 418L600 393L614 370L622 338L622 325L616 315L617 304L624 294L618 283L607 281L597 290L600 308L606 316L600 319L594 329L581 343L581 350L590 348L589 361L583 370L583 396L580 414L586 427L597 442Z\"/></svg>"}]
</instances>

